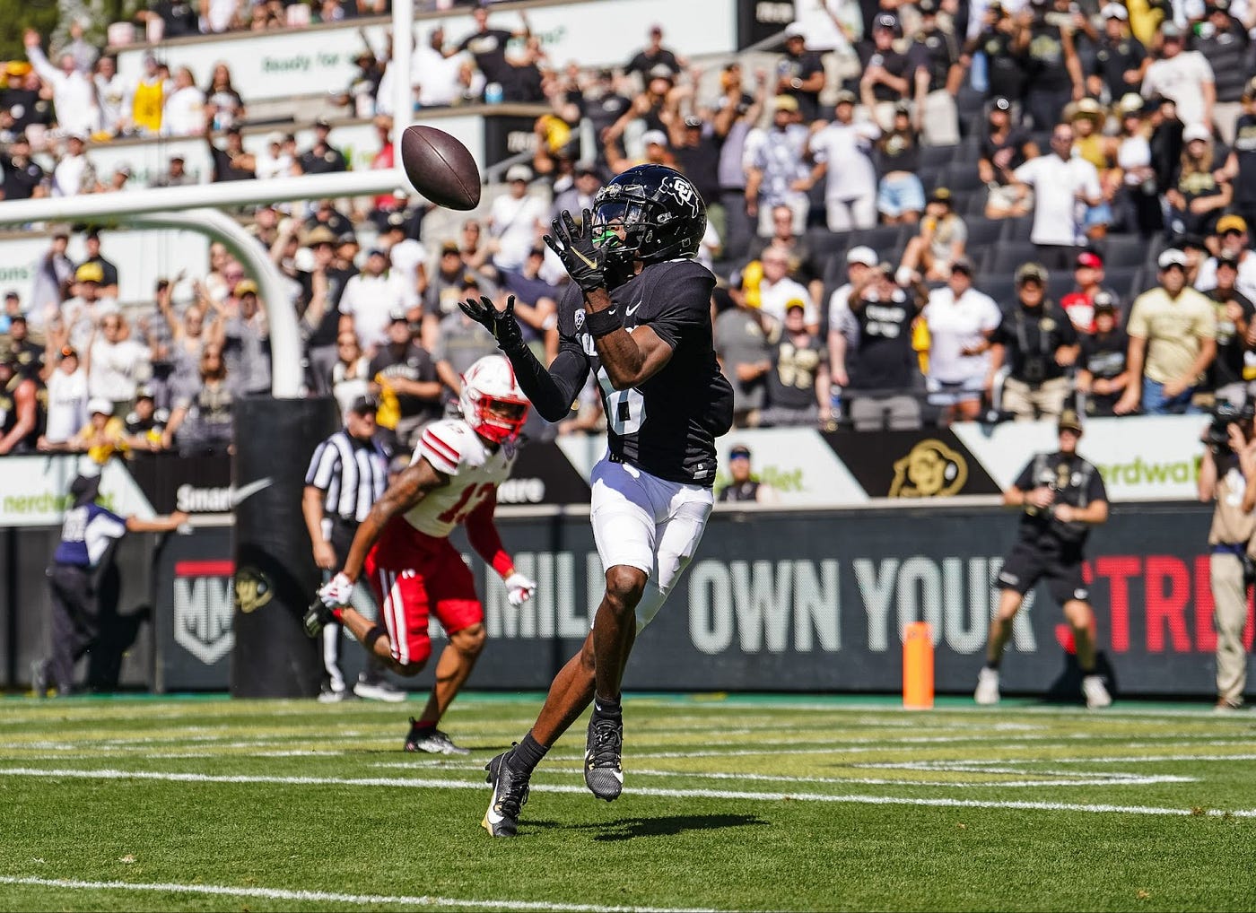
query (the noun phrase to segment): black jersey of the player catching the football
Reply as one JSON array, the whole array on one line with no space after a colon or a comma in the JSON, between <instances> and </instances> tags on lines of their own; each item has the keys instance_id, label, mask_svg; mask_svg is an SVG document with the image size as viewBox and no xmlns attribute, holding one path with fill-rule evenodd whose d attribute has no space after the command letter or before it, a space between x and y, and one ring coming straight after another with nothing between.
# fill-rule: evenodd
<instances>
[{"instance_id":1,"label":"black jersey of the player catching the football","mask_svg":"<svg viewBox=\"0 0 1256 913\"><path fill-rule=\"evenodd\" d=\"M624 329L648 325L672 347L671 360L657 374L627 391L610 386L593 337L583 329L579 288L571 284L563 293L559 355L550 370L571 372L583 364L577 391L593 372L602 389L612 460L669 482L706 487L715 482L715 438L732 427L732 387L715 358L713 288L715 276L702 264L671 260L646 266L610 293ZM526 384L524 389L529 392Z\"/></svg>"}]
</instances>

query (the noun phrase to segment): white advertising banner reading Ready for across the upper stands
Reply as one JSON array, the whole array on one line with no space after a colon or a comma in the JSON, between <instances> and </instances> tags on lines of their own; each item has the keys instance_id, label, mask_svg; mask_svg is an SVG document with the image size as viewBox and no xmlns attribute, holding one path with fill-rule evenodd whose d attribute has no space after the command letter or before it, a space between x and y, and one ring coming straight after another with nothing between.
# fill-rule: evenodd
<instances>
[{"instance_id":1,"label":"white advertising banner reading Ready for across the upper stands","mask_svg":"<svg viewBox=\"0 0 1256 913\"><path fill-rule=\"evenodd\" d=\"M735 50L735 10L728 0L589 0L528 10L533 34L551 60L559 65L579 60L585 67L624 65L647 41L651 24L661 23L664 40L686 57L726 54ZM416 20L414 34L425 38L437 23L443 23L446 39L456 45L475 29L470 14L460 10L443 19L425 16ZM608 23L628 23L628 28L607 28ZM501 10L489 19L494 29L519 29L517 14ZM173 41L160 49L146 45L118 53L118 72L127 78L143 73L143 59L154 50L171 70L191 68L197 85L205 85L214 65L231 64L231 80L247 87L250 102L310 95L318 92L340 93L348 89L358 68L354 58L371 48L382 54L387 30L384 20L362 26L354 20L342 25L310 26L279 33L230 33L214 40ZM512 45L507 53L521 49Z\"/></svg>"}]
</instances>

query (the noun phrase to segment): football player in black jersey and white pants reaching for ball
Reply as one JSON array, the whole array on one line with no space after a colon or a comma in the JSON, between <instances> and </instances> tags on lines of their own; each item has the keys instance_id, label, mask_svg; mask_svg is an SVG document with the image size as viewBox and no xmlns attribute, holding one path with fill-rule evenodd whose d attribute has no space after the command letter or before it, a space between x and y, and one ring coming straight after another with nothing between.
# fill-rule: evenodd
<instances>
[{"instance_id":1,"label":"football player in black jersey and white pants reaching for ball","mask_svg":"<svg viewBox=\"0 0 1256 913\"><path fill-rule=\"evenodd\" d=\"M514 299L462 304L492 332L536 411L556 422L592 372L607 413L607 455L593 468L593 538L607 590L580 652L550 686L531 731L489 764L484 826L512 836L528 781L593 701L584 781L610 801L623 789L619 682L633 639L693 558L711 514L715 438L732 426L732 388L711 338L715 276L695 260L706 205L688 178L638 165L585 210L551 224L546 244L571 283L559 301L559 353L549 369L524 344Z\"/></svg>"}]
</instances>

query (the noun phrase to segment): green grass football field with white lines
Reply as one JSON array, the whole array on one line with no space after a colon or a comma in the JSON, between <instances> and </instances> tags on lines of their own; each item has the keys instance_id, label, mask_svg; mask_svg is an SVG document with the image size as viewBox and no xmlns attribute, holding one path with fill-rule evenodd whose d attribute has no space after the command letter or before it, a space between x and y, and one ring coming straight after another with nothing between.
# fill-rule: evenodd
<instances>
[{"instance_id":1,"label":"green grass football field with white lines","mask_svg":"<svg viewBox=\"0 0 1256 913\"><path fill-rule=\"evenodd\" d=\"M519 836L484 765L540 696L0 700L0 909L1256 909L1256 716L628 696L625 791L583 721Z\"/></svg>"}]
</instances>

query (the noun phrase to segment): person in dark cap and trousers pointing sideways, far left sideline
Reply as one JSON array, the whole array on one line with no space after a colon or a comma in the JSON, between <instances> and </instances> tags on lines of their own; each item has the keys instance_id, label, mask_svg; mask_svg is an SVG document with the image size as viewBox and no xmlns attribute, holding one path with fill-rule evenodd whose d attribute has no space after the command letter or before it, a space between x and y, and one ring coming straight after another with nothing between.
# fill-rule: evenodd
<instances>
[{"instance_id":1,"label":"person in dark cap and trousers pointing sideways, far left sideline","mask_svg":"<svg viewBox=\"0 0 1256 913\"><path fill-rule=\"evenodd\" d=\"M100 595L97 583L113 561L114 544L127 532L171 532L187 522L187 514L141 520L121 517L95 502L99 476L78 476L70 484L74 506L65 511L62 541L48 566L53 598L53 649L48 659L30 667L35 697L53 686L57 696L74 691L74 663L92 649L100 630Z\"/></svg>"}]
</instances>

